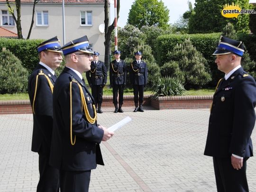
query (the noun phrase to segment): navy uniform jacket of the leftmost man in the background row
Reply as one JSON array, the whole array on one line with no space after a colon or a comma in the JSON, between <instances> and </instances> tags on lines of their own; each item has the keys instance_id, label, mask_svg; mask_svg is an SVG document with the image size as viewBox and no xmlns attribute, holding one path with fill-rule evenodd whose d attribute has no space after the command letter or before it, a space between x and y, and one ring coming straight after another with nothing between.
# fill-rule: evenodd
<instances>
[{"instance_id":1,"label":"navy uniform jacket of the leftmost man in the background row","mask_svg":"<svg viewBox=\"0 0 256 192\"><path fill-rule=\"evenodd\" d=\"M91 62L91 70L86 72L86 79L89 84L102 85L107 83L107 68L104 62L98 61L96 66Z\"/></svg>"}]
</instances>

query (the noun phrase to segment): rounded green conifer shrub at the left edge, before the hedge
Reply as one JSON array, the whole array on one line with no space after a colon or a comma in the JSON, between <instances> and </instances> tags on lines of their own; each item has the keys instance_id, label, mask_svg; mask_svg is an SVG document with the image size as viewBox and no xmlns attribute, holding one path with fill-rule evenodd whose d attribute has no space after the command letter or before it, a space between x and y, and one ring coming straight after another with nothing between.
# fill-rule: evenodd
<instances>
[{"instance_id":1,"label":"rounded green conifer shrub at the left edge, before the hedge","mask_svg":"<svg viewBox=\"0 0 256 192\"><path fill-rule=\"evenodd\" d=\"M27 92L27 69L5 48L0 52L0 94Z\"/></svg>"}]
</instances>

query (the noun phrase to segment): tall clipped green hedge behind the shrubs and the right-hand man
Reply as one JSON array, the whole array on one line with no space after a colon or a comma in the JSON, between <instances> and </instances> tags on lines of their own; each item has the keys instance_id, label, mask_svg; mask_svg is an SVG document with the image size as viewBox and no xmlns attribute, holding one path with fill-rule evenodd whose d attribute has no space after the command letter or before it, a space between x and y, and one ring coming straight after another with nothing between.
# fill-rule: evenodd
<instances>
[{"instance_id":1,"label":"tall clipped green hedge behind the shrubs and the right-hand man","mask_svg":"<svg viewBox=\"0 0 256 192\"><path fill-rule=\"evenodd\" d=\"M215 86L218 80L223 77L215 64L215 57L212 55L219 41L221 33L207 33L207 34L168 34L161 35L157 38L157 63L163 66L166 63L166 55L174 49L176 44L181 44L185 39L190 39L193 46L202 53L206 58L210 67L212 81L209 83L210 87ZM238 34L238 40L244 42L250 58L256 61L256 35L253 34Z\"/></svg>"}]
</instances>

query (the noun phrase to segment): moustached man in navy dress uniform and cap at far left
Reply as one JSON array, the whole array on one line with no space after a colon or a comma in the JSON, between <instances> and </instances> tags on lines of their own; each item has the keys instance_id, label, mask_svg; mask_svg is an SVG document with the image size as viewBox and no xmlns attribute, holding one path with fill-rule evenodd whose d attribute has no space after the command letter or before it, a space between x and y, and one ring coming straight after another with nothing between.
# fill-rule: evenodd
<instances>
[{"instance_id":1,"label":"moustached man in navy dress uniform and cap at far left","mask_svg":"<svg viewBox=\"0 0 256 192\"><path fill-rule=\"evenodd\" d=\"M39 154L37 192L59 191L59 170L49 165L53 130L53 88L55 69L62 62L57 37L37 46L39 63L28 79L28 95L33 111L32 151Z\"/></svg>"}]
</instances>

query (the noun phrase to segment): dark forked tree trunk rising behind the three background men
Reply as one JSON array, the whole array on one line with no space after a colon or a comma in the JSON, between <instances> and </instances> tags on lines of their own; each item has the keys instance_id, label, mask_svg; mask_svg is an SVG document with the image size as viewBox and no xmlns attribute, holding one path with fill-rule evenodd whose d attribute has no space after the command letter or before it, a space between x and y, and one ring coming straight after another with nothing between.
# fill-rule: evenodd
<instances>
[{"instance_id":1,"label":"dark forked tree trunk rising behind the three background men","mask_svg":"<svg viewBox=\"0 0 256 192\"><path fill-rule=\"evenodd\" d=\"M119 11L120 11L120 0L117 0L117 20L119 18ZM104 12L105 12L105 19L104 19L104 24L105 24L105 58L104 62L106 67L110 66L110 54L111 54L111 34L113 30L115 29L115 20L113 23L109 26L109 0L105 0L104 4Z\"/></svg>"}]
</instances>

